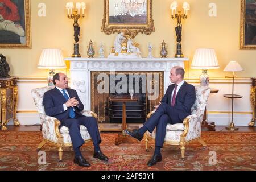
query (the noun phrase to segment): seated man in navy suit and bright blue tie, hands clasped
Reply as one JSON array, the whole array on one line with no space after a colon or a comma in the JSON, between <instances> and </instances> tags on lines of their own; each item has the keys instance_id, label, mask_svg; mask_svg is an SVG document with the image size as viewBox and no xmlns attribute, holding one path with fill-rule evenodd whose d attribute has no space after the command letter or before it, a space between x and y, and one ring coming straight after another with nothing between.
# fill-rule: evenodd
<instances>
[{"instance_id":1,"label":"seated man in navy suit and bright blue tie, hands clasped","mask_svg":"<svg viewBox=\"0 0 256 182\"><path fill-rule=\"evenodd\" d=\"M97 120L81 114L84 105L77 96L76 90L68 88L68 78L64 73L56 73L53 76L55 88L44 93L43 105L46 115L60 120L61 126L69 129L73 150L75 151L74 163L79 166L90 166L81 154L80 147L84 144L80 134L80 125L84 125L93 141L94 158L108 161L100 150L101 137L98 131ZM61 127L60 126L60 127Z\"/></svg>"}]
</instances>

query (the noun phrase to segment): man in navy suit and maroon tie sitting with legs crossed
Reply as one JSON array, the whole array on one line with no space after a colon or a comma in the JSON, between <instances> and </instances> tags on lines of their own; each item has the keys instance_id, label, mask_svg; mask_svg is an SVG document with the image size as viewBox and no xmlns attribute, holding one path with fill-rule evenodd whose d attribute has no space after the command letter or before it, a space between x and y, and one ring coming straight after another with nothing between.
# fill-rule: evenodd
<instances>
[{"instance_id":1,"label":"man in navy suit and maroon tie sitting with legs crossed","mask_svg":"<svg viewBox=\"0 0 256 182\"><path fill-rule=\"evenodd\" d=\"M183 80L185 71L182 67L173 67L170 71L172 85L168 86L160 105L155 106L155 113L143 123L138 130L125 130L131 137L142 140L146 131L152 133L156 127L155 152L147 165L152 166L162 160L160 149L163 147L168 123L183 123L183 119L191 115L191 107L196 100L195 87Z\"/></svg>"}]
</instances>

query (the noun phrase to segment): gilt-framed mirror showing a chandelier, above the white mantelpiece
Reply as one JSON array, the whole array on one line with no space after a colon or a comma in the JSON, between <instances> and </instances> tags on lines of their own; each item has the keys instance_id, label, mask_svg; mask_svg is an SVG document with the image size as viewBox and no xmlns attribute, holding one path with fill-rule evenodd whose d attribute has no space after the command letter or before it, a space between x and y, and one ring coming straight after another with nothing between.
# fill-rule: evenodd
<instances>
[{"instance_id":1,"label":"gilt-framed mirror showing a chandelier, above the white mantelpiece","mask_svg":"<svg viewBox=\"0 0 256 182\"><path fill-rule=\"evenodd\" d=\"M132 38L139 32L150 35L155 31L152 0L104 0L101 31L107 35L124 32Z\"/></svg>"}]
</instances>

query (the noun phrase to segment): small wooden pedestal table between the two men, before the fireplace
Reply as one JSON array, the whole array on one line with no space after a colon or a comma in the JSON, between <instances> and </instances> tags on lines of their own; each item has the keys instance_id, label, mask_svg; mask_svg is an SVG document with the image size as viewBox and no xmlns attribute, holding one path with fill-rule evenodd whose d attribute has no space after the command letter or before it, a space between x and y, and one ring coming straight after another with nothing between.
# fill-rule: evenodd
<instances>
[{"instance_id":1,"label":"small wooden pedestal table between the two men, before the fireplace","mask_svg":"<svg viewBox=\"0 0 256 182\"><path fill-rule=\"evenodd\" d=\"M125 134L125 129L127 128L127 124L126 124L126 102L137 102L138 98L137 97L133 97L130 98L129 95L122 95L122 96L110 96L109 97L109 101L113 101L113 102L123 102L123 113L122 113L122 133L119 133L118 137L115 138L115 145L119 145L123 142L125 142L125 140L127 140L127 138L129 137L128 135Z\"/></svg>"}]
</instances>

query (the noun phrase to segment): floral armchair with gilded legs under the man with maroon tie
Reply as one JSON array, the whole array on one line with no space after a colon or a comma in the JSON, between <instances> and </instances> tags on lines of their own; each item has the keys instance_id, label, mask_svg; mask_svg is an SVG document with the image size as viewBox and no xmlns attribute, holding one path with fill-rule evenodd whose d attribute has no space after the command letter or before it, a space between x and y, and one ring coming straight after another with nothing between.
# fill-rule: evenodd
<instances>
[{"instance_id":1,"label":"floral armchair with gilded legs under the man with maroon tie","mask_svg":"<svg viewBox=\"0 0 256 182\"><path fill-rule=\"evenodd\" d=\"M177 123L175 125L167 124L166 137L164 138L164 144L178 145L181 149L181 158L184 160L185 144L197 140L205 148L207 144L201 139L201 123L203 120L205 106L210 94L210 88L208 86L195 86L196 88L196 101L191 109L191 115L184 119L183 123ZM151 114L147 115L150 118ZM148 151L148 141L155 139L155 130L152 133L146 134L146 151Z\"/></svg>"}]
</instances>

